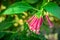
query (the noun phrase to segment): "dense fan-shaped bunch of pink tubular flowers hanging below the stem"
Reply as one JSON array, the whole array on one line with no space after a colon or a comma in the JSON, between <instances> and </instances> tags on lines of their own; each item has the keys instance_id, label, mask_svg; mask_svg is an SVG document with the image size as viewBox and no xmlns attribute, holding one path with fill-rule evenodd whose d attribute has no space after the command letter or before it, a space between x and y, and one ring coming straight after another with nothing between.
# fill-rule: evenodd
<instances>
[{"instance_id":1,"label":"dense fan-shaped bunch of pink tubular flowers hanging below the stem","mask_svg":"<svg viewBox=\"0 0 60 40\"><path fill-rule=\"evenodd\" d=\"M43 18L42 16L38 19L36 16L32 16L30 19L27 20L29 29L36 34L39 34L40 32L40 27L43 23Z\"/></svg>"}]
</instances>

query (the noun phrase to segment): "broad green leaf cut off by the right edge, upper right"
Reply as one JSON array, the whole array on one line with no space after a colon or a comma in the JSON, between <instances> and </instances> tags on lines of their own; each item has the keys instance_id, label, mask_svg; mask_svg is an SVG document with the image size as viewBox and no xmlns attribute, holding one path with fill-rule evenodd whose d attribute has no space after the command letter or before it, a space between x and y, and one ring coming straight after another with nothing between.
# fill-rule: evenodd
<instances>
[{"instance_id":1,"label":"broad green leaf cut off by the right edge, upper right","mask_svg":"<svg viewBox=\"0 0 60 40\"><path fill-rule=\"evenodd\" d=\"M57 4L49 2L44 9L60 19L60 7Z\"/></svg>"}]
</instances>

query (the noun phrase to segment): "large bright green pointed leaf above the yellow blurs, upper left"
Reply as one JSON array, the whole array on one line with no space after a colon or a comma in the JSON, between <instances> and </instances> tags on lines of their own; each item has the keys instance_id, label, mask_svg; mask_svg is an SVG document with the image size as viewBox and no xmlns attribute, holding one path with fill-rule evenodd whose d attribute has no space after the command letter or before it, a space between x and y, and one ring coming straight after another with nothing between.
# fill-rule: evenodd
<instances>
[{"instance_id":1,"label":"large bright green pointed leaf above the yellow blurs, upper left","mask_svg":"<svg viewBox=\"0 0 60 40\"><path fill-rule=\"evenodd\" d=\"M27 11L29 9L32 9L32 7L28 3L16 2L12 4L10 7L8 7L7 10L3 12L3 14L17 14Z\"/></svg>"}]
</instances>

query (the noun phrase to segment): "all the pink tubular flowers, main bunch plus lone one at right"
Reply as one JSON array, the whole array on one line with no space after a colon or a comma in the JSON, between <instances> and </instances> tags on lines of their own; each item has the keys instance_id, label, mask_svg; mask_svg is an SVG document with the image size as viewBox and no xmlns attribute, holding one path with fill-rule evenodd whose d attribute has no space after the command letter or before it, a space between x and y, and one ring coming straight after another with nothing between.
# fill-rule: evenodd
<instances>
[{"instance_id":1,"label":"all the pink tubular flowers, main bunch plus lone one at right","mask_svg":"<svg viewBox=\"0 0 60 40\"><path fill-rule=\"evenodd\" d=\"M50 28L52 28L54 25L50 21L49 16L45 15L45 18L47 19ZM29 29L31 31L35 32L36 34L39 34L40 33L40 27L43 23L43 17L40 16L40 18L38 18L37 16L34 15L30 19L27 20L27 23L28 23Z\"/></svg>"}]
</instances>

